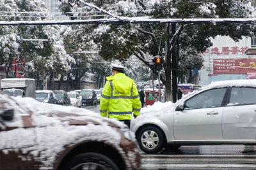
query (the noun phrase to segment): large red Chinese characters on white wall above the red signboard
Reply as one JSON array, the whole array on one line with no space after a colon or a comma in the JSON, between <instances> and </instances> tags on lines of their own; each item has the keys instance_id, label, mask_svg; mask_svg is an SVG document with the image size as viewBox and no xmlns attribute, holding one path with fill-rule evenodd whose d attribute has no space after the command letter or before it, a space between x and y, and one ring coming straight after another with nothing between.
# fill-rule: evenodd
<instances>
[{"instance_id":1,"label":"large red Chinese characters on white wall above the red signboard","mask_svg":"<svg viewBox=\"0 0 256 170\"><path fill-rule=\"evenodd\" d=\"M232 46L231 48L229 48L229 46L222 46L222 51L220 52L218 47L214 47L211 50L211 54L217 54L217 55L243 54L247 48L248 46L242 46L241 48L239 48L238 46ZM203 55L206 53L209 53L209 48L207 48L205 52L203 52Z\"/></svg>"}]
</instances>

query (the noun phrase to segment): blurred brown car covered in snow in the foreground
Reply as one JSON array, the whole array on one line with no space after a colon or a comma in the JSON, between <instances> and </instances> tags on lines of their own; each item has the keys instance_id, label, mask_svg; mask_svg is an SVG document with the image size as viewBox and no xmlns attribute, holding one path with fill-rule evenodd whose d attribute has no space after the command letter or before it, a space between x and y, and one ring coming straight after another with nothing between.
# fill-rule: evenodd
<instances>
[{"instance_id":1,"label":"blurred brown car covered in snow in the foreground","mask_svg":"<svg viewBox=\"0 0 256 170\"><path fill-rule=\"evenodd\" d=\"M0 94L0 169L140 169L134 137L90 110Z\"/></svg>"}]
</instances>

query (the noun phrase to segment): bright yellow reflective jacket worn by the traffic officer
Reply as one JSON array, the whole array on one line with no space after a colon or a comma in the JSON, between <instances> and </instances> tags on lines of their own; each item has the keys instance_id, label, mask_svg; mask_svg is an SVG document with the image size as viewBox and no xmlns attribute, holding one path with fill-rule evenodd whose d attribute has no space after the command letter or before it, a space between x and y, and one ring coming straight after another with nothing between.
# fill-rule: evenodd
<instances>
[{"instance_id":1,"label":"bright yellow reflective jacket worn by the traffic officer","mask_svg":"<svg viewBox=\"0 0 256 170\"><path fill-rule=\"evenodd\" d=\"M140 95L134 80L123 73L106 77L108 80L100 96L100 115L117 120L131 120L132 106L134 115L140 115Z\"/></svg>"}]
</instances>

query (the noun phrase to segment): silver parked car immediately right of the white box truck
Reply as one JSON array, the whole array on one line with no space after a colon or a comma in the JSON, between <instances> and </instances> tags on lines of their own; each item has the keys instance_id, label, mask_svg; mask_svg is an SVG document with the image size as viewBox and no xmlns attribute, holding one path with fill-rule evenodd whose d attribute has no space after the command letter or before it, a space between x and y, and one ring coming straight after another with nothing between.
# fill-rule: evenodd
<instances>
[{"instance_id":1,"label":"silver parked car immediately right of the white box truck","mask_svg":"<svg viewBox=\"0 0 256 170\"><path fill-rule=\"evenodd\" d=\"M36 101L57 104L57 97L52 90L36 90Z\"/></svg>"}]
</instances>

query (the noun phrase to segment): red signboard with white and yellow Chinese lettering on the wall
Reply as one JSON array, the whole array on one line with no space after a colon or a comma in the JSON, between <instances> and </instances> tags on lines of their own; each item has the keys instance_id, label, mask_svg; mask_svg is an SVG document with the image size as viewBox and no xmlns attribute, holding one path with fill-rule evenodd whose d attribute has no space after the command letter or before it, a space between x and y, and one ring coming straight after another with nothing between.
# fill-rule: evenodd
<instances>
[{"instance_id":1,"label":"red signboard with white and yellow Chinese lettering on the wall","mask_svg":"<svg viewBox=\"0 0 256 170\"><path fill-rule=\"evenodd\" d=\"M213 59L213 74L256 73L255 59Z\"/></svg>"}]
</instances>

